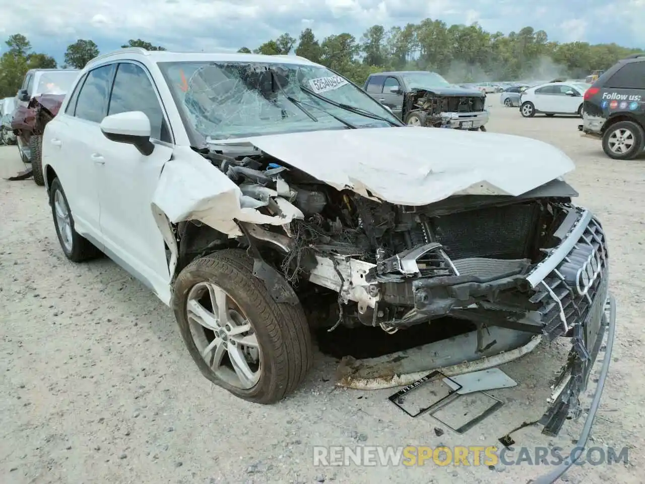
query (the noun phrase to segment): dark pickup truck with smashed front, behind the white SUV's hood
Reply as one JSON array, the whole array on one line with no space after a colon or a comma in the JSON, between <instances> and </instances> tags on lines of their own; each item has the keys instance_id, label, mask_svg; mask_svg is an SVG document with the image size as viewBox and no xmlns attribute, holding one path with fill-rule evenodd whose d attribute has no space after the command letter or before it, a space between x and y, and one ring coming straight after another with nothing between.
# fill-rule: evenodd
<instances>
[{"instance_id":1,"label":"dark pickup truck with smashed front, behind the white SUV's hood","mask_svg":"<svg viewBox=\"0 0 645 484\"><path fill-rule=\"evenodd\" d=\"M435 72L379 72L363 88L406 125L486 130L486 94L453 86Z\"/></svg>"}]
</instances>

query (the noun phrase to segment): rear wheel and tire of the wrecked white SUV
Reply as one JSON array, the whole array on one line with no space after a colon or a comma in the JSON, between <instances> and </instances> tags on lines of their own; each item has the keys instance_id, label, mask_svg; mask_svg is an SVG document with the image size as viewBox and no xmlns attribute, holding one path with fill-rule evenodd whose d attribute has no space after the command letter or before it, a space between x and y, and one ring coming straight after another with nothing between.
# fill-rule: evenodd
<instances>
[{"instance_id":1,"label":"rear wheel and tire of the wrecked white SUV","mask_svg":"<svg viewBox=\"0 0 645 484\"><path fill-rule=\"evenodd\" d=\"M72 262L83 262L99 256L101 254L99 249L76 232L72 210L67 203L63 185L57 178L52 181L49 200L52 206L52 217L54 217L54 228L65 257Z\"/></svg>"}]
</instances>

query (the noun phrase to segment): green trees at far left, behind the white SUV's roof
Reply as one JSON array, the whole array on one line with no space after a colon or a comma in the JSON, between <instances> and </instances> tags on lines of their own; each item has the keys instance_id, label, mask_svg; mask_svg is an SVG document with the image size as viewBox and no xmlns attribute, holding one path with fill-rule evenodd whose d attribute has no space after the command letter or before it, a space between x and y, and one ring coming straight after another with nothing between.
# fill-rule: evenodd
<instances>
[{"instance_id":1,"label":"green trees at far left, behind the white SUV's roof","mask_svg":"<svg viewBox=\"0 0 645 484\"><path fill-rule=\"evenodd\" d=\"M56 59L51 55L32 52L32 45L23 34L11 35L5 43L9 50L0 57L0 99L15 96L29 69L55 69L57 67L82 69L99 55L99 47L94 41L79 39L67 46L64 64L58 66ZM141 39L130 39L128 43L121 46L121 48L125 47L166 50Z\"/></svg>"}]
</instances>

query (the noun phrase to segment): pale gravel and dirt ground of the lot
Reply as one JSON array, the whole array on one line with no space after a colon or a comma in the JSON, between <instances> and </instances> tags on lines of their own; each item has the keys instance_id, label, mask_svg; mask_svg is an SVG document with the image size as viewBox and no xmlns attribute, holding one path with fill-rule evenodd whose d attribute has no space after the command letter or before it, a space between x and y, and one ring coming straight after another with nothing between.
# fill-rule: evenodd
<instances>
[{"instance_id":1,"label":"pale gravel and dirt ground of the lot","mask_svg":"<svg viewBox=\"0 0 645 484\"><path fill-rule=\"evenodd\" d=\"M490 131L535 137L573 157L577 170L568 181L610 237L617 341L590 444L627 446L630 463L584 465L564 479L641 483L645 159L611 161L599 141L579 136L579 119L491 110ZM0 147L0 176L19 169L15 146ZM442 426L432 417L404 415L386 399L393 390L335 388L337 361L320 352L295 394L271 407L253 405L199 374L170 310L121 268L108 259L66 261L51 219L43 188L0 180L0 482L523 483L548 470L313 467L312 447L498 445L508 430L541 416L562 345L543 345L504 365L519 385L492 392L506 405L462 436L445 428L437 436ZM581 422L567 423L558 439L527 429L515 439L569 449L580 429Z\"/></svg>"}]
</instances>

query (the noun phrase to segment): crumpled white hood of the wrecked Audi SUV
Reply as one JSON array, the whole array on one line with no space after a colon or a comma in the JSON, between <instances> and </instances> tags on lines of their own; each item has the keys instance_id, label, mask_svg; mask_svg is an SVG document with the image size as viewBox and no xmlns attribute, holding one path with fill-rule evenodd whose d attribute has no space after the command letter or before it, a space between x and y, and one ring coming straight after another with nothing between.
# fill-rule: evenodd
<instances>
[{"instance_id":1,"label":"crumpled white hood of the wrecked Audi SUV","mask_svg":"<svg viewBox=\"0 0 645 484\"><path fill-rule=\"evenodd\" d=\"M252 145L338 190L410 206L462 194L519 196L575 168L564 152L535 139L417 126L213 143Z\"/></svg>"}]
</instances>

